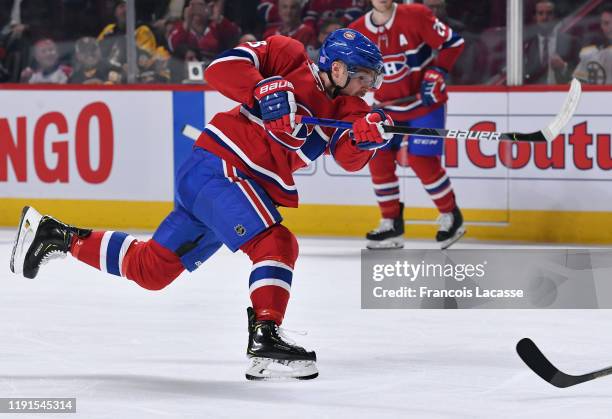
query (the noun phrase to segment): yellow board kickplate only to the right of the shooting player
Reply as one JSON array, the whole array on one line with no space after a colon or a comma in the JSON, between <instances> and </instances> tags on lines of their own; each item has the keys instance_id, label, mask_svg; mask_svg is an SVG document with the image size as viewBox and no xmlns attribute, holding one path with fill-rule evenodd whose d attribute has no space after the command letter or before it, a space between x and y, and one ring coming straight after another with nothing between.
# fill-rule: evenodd
<instances>
[{"instance_id":1,"label":"yellow board kickplate only to the right of the shooting player","mask_svg":"<svg viewBox=\"0 0 612 419\"><path fill-rule=\"evenodd\" d=\"M539 243L612 244L612 212L553 212L527 210L462 210L468 224L466 238L486 241ZM380 213L374 206L301 205L281 210L285 224L298 235L364 237L374 228ZM430 239L437 231L438 216L433 208L406 208L406 237ZM429 220L431 224L410 224Z\"/></svg>"}]
</instances>

